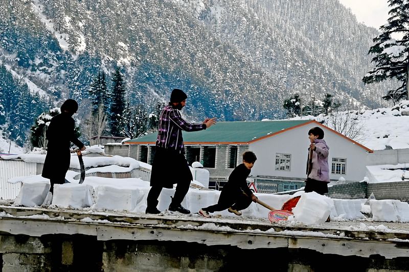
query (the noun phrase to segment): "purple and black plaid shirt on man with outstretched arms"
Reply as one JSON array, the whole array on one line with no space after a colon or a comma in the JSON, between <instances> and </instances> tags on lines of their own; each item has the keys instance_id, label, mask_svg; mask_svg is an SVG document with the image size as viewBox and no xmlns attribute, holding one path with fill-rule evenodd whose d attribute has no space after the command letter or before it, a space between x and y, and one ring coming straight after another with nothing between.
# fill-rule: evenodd
<instances>
[{"instance_id":1,"label":"purple and black plaid shirt on man with outstretched arms","mask_svg":"<svg viewBox=\"0 0 409 272\"><path fill-rule=\"evenodd\" d=\"M167 105L162 110L157 130L156 146L165 149L175 149L185 154L182 130L199 131L205 130L206 125L202 123L188 123L172 105Z\"/></svg>"}]
</instances>

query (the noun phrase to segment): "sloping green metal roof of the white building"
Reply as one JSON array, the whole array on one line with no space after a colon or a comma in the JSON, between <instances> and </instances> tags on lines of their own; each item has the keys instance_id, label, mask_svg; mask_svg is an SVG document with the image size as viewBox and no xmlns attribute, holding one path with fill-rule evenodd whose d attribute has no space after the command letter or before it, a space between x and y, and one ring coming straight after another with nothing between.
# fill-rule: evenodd
<instances>
[{"instance_id":1,"label":"sloping green metal roof of the white building","mask_svg":"<svg viewBox=\"0 0 409 272\"><path fill-rule=\"evenodd\" d=\"M276 133L303 126L312 120L271 120L217 122L201 131L183 132L185 143L248 143ZM126 143L155 143L157 133L151 133Z\"/></svg>"}]
</instances>

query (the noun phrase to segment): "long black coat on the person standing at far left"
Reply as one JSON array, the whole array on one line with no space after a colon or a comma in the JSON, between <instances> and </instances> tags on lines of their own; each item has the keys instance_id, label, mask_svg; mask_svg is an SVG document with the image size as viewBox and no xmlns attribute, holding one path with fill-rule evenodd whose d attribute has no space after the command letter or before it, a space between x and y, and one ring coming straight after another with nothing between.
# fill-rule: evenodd
<instances>
[{"instance_id":1,"label":"long black coat on the person standing at far left","mask_svg":"<svg viewBox=\"0 0 409 272\"><path fill-rule=\"evenodd\" d=\"M70 142L80 149L84 144L75 137L75 121L71 114L62 112L51 119L46 137L47 156L41 176L47 179L64 179L70 168Z\"/></svg>"}]
</instances>

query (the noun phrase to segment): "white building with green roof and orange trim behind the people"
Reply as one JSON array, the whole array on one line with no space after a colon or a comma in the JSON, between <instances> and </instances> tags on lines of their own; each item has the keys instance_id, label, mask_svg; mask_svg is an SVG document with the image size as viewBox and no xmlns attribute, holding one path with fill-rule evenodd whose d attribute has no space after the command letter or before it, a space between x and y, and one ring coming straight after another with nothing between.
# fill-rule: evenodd
<instances>
[{"instance_id":1,"label":"white building with green roof and orange trim behind the people","mask_svg":"<svg viewBox=\"0 0 409 272\"><path fill-rule=\"evenodd\" d=\"M241 154L251 150L258 159L249 179L256 182L260 192L298 189L306 179L308 131L313 127L321 127L325 133L330 179L361 181L366 174L367 155L373 151L314 120L217 122L205 131L183 133L186 158L189 164L200 161L210 172L209 186L219 189L241 163ZM150 163L156 135L125 142L128 156ZM113 149L115 145L105 145L107 154L115 154Z\"/></svg>"}]
</instances>

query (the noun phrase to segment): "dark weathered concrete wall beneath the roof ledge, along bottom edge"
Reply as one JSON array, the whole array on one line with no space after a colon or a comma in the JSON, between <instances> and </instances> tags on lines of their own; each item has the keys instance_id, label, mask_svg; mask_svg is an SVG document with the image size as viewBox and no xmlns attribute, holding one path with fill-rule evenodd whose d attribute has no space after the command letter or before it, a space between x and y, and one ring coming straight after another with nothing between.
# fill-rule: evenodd
<instances>
[{"instance_id":1,"label":"dark weathered concrete wall beneath the roof ledge, along bottom edge","mask_svg":"<svg viewBox=\"0 0 409 272\"><path fill-rule=\"evenodd\" d=\"M409 257L385 260L304 249L239 249L194 242L109 240L86 235L0 236L3 272L15 271L407 271ZM321 241L322 242L326 242ZM330 269L331 270L331 269Z\"/></svg>"}]
</instances>

